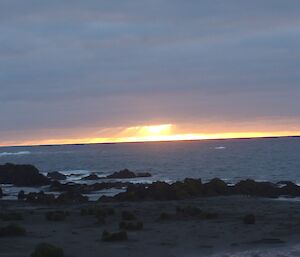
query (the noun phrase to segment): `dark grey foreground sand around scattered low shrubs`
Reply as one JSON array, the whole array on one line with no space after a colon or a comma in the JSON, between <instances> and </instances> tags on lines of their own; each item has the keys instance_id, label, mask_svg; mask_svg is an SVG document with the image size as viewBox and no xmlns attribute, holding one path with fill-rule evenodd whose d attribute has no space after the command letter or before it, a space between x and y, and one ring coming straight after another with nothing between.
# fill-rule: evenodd
<instances>
[{"instance_id":1,"label":"dark grey foreground sand around scattered low shrubs","mask_svg":"<svg viewBox=\"0 0 300 257\"><path fill-rule=\"evenodd\" d=\"M93 205L91 203L90 205ZM285 248L300 242L300 203L242 196L198 198L183 201L105 203L116 213L104 225L94 216L81 216L84 205L37 206L18 201L0 201L1 212L23 213L25 237L0 238L1 257L27 257L40 242L62 247L67 257L192 257L224 256L224 252ZM178 206L216 212L216 219L175 217L159 220L162 212L175 213ZM65 221L45 219L49 210L67 210ZM104 229L118 231L121 212L129 210L143 221L144 229L129 231L128 241L103 242ZM253 213L256 224L242 222ZM0 221L1 226L8 222Z\"/></svg>"}]
</instances>

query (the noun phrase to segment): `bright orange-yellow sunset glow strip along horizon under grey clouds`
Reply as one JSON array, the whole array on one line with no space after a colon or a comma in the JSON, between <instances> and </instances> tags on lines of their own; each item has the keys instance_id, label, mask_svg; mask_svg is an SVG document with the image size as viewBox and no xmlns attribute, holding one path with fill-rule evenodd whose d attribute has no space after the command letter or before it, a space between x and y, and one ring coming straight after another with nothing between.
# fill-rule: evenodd
<instances>
[{"instance_id":1,"label":"bright orange-yellow sunset glow strip along horizon under grey clouds","mask_svg":"<svg viewBox=\"0 0 300 257\"><path fill-rule=\"evenodd\" d=\"M223 127L224 131L229 130ZM76 136L72 138L51 138L23 140L22 142L1 142L0 145L51 145L51 144L83 144L83 143L124 143L124 142L151 142L151 141L182 141L182 140L204 140L204 139L228 139L228 138L259 138L300 135L300 131L236 131L218 133L192 132L191 129L183 129L173 124L145 125L127 128L106 128L89 137ZM88 134L88 133L87 133Z\"/></svg>"}]
</instances>

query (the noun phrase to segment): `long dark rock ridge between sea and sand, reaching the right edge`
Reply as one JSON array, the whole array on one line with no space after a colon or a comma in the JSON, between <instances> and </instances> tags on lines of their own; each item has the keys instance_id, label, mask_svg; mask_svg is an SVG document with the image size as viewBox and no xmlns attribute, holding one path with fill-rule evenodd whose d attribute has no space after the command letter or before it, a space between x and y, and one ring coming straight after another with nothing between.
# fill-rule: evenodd
<instances>
[{"instance_id":1,"label":"long dark rock ridge between sea and sand, reaching the right edge","mask_svg":"<svg viewBox=\"0 0 300 257\"><path fill-rule=\"evenodd\" d=\"M141 201L141 200L180 200L193 197L209 197L224 195L247 195L275 198L279 196L300 196L300 187L289 182L279 187L271 182L256 182L251 179L242 180L236 185L227 185L219 178L214 178L208 183L200 179L185 179L183 182L168 184L154 182L150 185L131 184L126 192L114 197L100 197L100 201Z\"/></svg>"}]
</instances>

